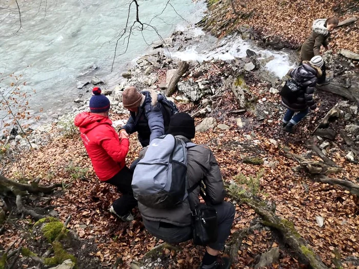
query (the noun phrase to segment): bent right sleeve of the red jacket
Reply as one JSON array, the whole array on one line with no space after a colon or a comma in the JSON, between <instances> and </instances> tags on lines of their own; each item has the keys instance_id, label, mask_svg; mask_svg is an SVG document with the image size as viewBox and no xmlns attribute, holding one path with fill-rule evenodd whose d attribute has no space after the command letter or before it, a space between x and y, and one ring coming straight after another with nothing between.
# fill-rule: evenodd
<instances>
[{"instance_id":1,"label":"bent right sleeve of the red jacket","mask_svg":"<svg viewBox=\"0 0 359 269\"><path fill-rule=\"evenodd\" d=\"M99 144L114 161L123 162L126 159L130 142L127 138L120 141L116 132L111 131L113 135L104 137Z\"/></svg>"}]
</instances>

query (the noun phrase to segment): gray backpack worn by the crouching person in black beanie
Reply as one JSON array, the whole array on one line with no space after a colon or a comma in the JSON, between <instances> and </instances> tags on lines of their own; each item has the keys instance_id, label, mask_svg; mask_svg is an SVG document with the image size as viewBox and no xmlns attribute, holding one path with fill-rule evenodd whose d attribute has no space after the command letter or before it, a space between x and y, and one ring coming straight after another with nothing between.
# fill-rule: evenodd
<instances>
[{"instance_id":1,"label":"gray backpack worn by the crouching person in black beanie","mask_svg":"<svg viewBox=\"0 0 359 269\"><path fill-rule=\"evenodd\" d=\"M173 208L187 198L186 173L186 143L173 135L155 138L134 170L133 195L149 208Z\"/></svg>"}]
</instances>

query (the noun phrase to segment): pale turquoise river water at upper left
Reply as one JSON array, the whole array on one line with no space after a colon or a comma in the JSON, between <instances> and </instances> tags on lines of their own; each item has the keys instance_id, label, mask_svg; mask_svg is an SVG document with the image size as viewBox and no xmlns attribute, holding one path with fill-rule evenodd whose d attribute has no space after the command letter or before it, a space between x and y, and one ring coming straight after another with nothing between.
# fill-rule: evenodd
<instances>
[{"instance_id":1,"label":"pale turquoise river water at upper left","mask_svg":"<svg viewBox=\"0 0 359 269\"><path fill-rule=\"evenodd\" d=\"M95 75L114 82L130 61L145 53L147 44L159 37L153 29L143 35L134 31L126 54L117 56L110 73L116 37L126 25L131 1L113 0L33 0L18 1L22 28L14 0L0 3L0 73L23 74L23 90L36 90L30 104L34 110L64 107L73 102L78 91L76 81L88 68L99 68ZM199 20L204 3L192 0L138 0L139 18L156 27L164 38L175 27L185 27ZM159 15L162 10L165 11ZM174 10L175 9L175 10ZM178 16L176 12L181 15ZM155 17L158 15L158 17ZM153 18L155 17L155 18ZM135 19L132 5L130 22ZM151 20L152 19L152 20ZM185 20L186 21L185 21ZM17 32L17 33L16 33ZM125 35L126 36L126 35ZM146 41L145 41L145 40ZM126 43L119 43L117 54ZM4 77L4 75L3 75ZM108 81L106 81L108 82ZM3 89L9 80L0 85Z\"/></svg>"}]
</instances>

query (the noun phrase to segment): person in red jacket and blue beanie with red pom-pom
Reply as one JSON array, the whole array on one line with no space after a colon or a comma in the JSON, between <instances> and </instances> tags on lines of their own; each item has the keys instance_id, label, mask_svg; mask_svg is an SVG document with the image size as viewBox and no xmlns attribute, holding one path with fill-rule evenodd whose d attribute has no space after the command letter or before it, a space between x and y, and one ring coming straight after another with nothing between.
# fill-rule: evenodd
<instances>
[{"instance_id":1,"label":"person in red jacket and blue beanie with red pom-pom","mask_svg":"<svg viewBox=\"0 0 359 269\"><path fill-rule=\"evenodd\" d=\"M93 88L90 111L79 113L74 120L99 180L112 184L122 196L112 203L110 212L123 221L132 221L131 210L137 205L131 182L133 171L125 164L129 140L126 131L119 137L109 119L110 100L98 87Z\"/></svg>"}]
</instances>

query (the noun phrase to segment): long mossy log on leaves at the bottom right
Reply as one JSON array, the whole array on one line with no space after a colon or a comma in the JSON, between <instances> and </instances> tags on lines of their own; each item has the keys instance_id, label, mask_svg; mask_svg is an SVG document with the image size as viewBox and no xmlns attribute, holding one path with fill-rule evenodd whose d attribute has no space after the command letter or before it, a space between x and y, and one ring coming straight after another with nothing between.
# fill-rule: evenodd
<instances>
[{"instance_id":1,"label":"long mossy log on leaves at the bottom right","mask_svg":"<svg viewBox=\"0 0 359 269\"><path fill-rule=\"evenodd\" d=\"M328 269L328 267L315 254L308 243L295 230L294 224L286 219L282 219L273 213L273 211L258 199L253 199L249 193L231 184L226 188L229 196L236 201L241 201L249 205L263 219L263 224L278 231L284 238L285 243L291 250L308 262L314 269Z\"/></svg>"}]
</instances>

